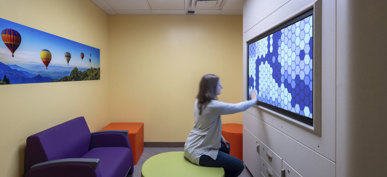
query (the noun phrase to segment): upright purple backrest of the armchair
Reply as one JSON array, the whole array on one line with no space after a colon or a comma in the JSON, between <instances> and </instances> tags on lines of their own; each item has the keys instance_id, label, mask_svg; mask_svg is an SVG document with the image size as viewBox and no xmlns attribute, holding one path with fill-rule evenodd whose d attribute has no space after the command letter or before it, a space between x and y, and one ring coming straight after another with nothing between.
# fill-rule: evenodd
<instances>
[{"instance_id":1,"label":"upright purple backrest of the armchair","mask_svg":"<svg viewBox=\"0 0 387 177\"><path fill-rule=\"evenodd\" d=\"M26 171L32 165L62 158L80 158L89 150L91 134L84 117L77 117L27 138Z\"/></svg>"}]
</instances>

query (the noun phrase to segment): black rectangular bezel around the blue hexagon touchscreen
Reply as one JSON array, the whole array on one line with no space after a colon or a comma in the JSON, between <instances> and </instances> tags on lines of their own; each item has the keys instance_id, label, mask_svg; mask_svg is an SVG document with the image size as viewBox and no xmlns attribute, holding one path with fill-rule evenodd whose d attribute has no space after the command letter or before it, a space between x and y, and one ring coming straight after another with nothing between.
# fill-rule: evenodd
<instances>
[{"instance_id":1,"label":"black rectangular bezel around the blue hexagon touchscreen","mask_svg":"<svg viewBox=\"0 0 387 177\"><path fill-rule=\"evenodd\" d=\"M269 35L271 35L273 33L276 33L277 31L279 31L279 30L281 30L281 29L283 29L285 27L288 27L289 25L294 24L295 22L300 21L301 19L304 19L304 18L306 18L306 17L308 17L310 15L313 15L313 22L314 22L315 21L315 19L314 19L315 15L314 15L314 11L313 10L314 10L313 8L309 9L309 10L303 12L302 14L297 15L296 17L294 17L294 18L284 22L283 24L280 24L280 25L270 29L269 31L267 31L267 32L257 36L256 38L253 38L252 40L248 41L247 42L247 58L249 56L248 55L249 54L248 46L250 44L255 43L256 41L259 41L262 38L265 38L266 36L269 36ZM314 31L315 31L315 27L313 27L313 43L315 41ZM313 51L314 51L314 47L315 47L315 45L313 45ZM313 62L314 62L314 58L315 58L315 56L314 56L314 53L313 53ZM247 60L247 68L248 68L248 66L249 66L249 60ZM313 71L313 76L315 76L315 69L314 69L314 67L313 67L312 71ZM247 89L247 95L246 95L246 98L247 98L247 100L250 100L250 98L249 98L250 93L248 92L248 90L249 90L249 88L248 88L248 81L249 81L249 74L248 74L248 70L247 70L247 82L246 82L247 83L247 88L246 88ZM314 81L315 81L315 79L313 78L313 82ZM314 83L313 83L313 92L314 92ZM313 105L314 105L314 101L315 101L315 96L313 94L313 103L312 103ZM267 108L269 110L272 110L274 112L280 113L280 114L282 114L282 115L284 115L286 117L289 117L291 119L297 120L298 122L302 122L303 124L307 124L307 125L313 127L313 121L314 121L314 117L315 117L314 116L314 113L315 113L315 107L314 106L313 106L313 118L311 119L309 117L306 117L306 116L303 116L303 115L300 115L298 113L291 112L291 111L288 111L288 110L284 110L283 108L279 108L279 107L276 107L276 106L264 103L262 101L258 101L257 100L257 105L265 107L265 108Z\"/></svg>"}]
</instances>

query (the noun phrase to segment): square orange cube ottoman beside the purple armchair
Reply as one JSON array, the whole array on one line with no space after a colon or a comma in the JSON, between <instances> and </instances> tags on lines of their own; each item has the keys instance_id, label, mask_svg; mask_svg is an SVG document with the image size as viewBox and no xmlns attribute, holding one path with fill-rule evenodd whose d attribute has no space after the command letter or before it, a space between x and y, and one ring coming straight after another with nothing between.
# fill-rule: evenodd
<instances>
[{"instance_id":1,"label":"square orange cube ottoman beside the purple armchair","mask_svg":"<svg viewBox=\"0 0 387 177\"><path fill-rule=\"evenodd\" d=\"M144 152L144 123L116 122L106 125L102 130L128 130L128 138L133 153L133 163L137 165Z\"/></svg>"}]
</instances>

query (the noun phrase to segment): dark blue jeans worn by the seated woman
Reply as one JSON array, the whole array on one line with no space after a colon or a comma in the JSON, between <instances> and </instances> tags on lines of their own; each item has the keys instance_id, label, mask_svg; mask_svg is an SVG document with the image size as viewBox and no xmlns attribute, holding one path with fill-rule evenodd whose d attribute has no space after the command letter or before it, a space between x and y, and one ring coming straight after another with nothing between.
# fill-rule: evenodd
<instances>
[{"instance_id":1,"label":"dark blue jeans worn by the seated woman","mask_svg":"<svg viewBox=\"0 0 387 177\"><path fill-rule=\"evenodd\" d=\"M230 144L228 148L223 142L221 142L221 148L219 149L216 160L212 159L210 156L202 155L199 159L199 165L205 167L222 167L224 169L225 177L237 177L239 176L243 168L243 162L238 158L230 155Z\"/></svg>"}]
</instances>

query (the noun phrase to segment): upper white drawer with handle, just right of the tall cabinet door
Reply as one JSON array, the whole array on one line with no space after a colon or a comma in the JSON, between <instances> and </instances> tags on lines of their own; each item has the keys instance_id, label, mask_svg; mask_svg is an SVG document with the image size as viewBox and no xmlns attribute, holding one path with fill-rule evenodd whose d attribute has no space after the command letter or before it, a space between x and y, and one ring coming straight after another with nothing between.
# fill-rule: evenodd
<instances>
[{"instance_id":1,"label":"upper white drawer with handle, just right of the tall cabinet door","mask_svg":"<svg viewBox=\"0 0 387 177\"><path fill-rule=\"evenodd\" d=\"M260 156L273 168L277 174L281 174L282 169L282 158L280 158L276 153L269 149L265 144L261 143L259 145Z\"/></svg>"}]
</instances>

